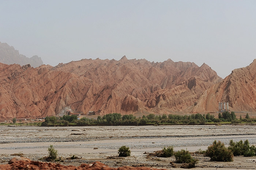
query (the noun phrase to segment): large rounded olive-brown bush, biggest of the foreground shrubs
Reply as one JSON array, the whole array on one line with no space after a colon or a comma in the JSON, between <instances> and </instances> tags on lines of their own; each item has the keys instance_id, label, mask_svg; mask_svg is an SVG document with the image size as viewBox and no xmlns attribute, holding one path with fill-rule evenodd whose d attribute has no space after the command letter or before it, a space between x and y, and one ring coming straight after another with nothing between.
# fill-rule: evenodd
<instances>
[{"instance_id":1,"label":"large rounded olive-brown bush, biggest of the foreground shrubs","mask_svg":"<svg viewBox=\"0 0 256 170\"><path fill-rule=\"evenodd\" d=\"M209 156L212 161L220 162L232 162L233 153L231 150L225 147L221 141L214 141L211 146L208 146L206 150L206 156Z\"/></svg>"}]
</instances>

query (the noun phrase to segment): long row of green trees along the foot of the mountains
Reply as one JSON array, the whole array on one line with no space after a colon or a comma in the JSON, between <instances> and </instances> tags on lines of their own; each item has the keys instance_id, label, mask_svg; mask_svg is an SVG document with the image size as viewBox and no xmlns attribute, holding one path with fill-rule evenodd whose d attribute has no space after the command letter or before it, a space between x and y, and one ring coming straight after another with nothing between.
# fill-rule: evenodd
<instances>
[{"instance_id":1,"label":"long row of green trees along the foot of the mountains","mask_svg":"<svg viewBox=\"0 0 256 170\"><path fill-rule=\"evenodd\" d=\"M218 122L231 122L231 123L241 123L241 122L256 122L255 118L250 118L247 114L245 118L240 116L240 119L236 118L234 112L223 112L219 113L218 118L215 118L214 115L207 114L191 114L191 115L175 115L163 114L162 116L155 116L155 114L148 114L147 116L142 116L136 118L132 114L121 115L120 113L110 113L104 116L98 116L97 119L89 119L83 117L78 120L76 115L64 115L63 117L50 116L45 118L45 122L42 122L42 126L49 125L77 125L77 126L86 126L86 125L153 125L153 124L189 124L195 125L200 124L204 125L206 123L218 123Z\"/></svg>"}]
</instances>

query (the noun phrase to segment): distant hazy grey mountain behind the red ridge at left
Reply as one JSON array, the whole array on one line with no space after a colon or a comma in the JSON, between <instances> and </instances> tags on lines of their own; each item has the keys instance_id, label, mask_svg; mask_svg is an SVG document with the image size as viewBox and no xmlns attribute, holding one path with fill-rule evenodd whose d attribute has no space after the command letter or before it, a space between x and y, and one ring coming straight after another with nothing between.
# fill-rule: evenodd
<instances>
[{"instance_id":1,"label":"distant hazy grey mountain behind the red ridge at left","mask_svg":"<svg viewBox=\"0 0 256 170\"><path fill-rule=\"evenodd\" d=\"M32 67L39 67L43 64L43 61L38 56L27 58L26 56L19 54L19 51L15 50L13 46L0 42L0 63L19 65L30 64Z\"/></svg>"}]
</instances>

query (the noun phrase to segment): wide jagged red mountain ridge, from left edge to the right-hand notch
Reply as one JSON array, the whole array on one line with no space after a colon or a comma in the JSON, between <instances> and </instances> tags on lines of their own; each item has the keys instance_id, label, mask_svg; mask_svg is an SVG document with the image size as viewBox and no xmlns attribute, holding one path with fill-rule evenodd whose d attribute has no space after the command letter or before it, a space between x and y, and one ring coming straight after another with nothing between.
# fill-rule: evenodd
<instances>
[{"instance_id":1,"label":"wide jagged red mountain ridge, from left edge to the right-hand notch","mask_svg":"<svg viewBox=\"0 0 256 170\"><path fill-rule=\"evenodd\" d=\"M83 59L56 67L0 64L1 118L192 112L222 79L208 65Z\"/></svg>"}]
</instances>

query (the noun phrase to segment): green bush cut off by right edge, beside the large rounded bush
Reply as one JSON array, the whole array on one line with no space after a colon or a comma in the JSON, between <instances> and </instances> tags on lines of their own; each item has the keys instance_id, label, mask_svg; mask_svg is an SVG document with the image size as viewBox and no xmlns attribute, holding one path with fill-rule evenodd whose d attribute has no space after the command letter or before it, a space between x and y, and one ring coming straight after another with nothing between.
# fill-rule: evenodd
<instances>
[{"instance_id":1,"label":"green bush cut off by right edge, beside the large rounded bush","mask_svg":"<svg viewBox=\"0 0 256 170\"><path fill-rule=\"evenodd\" d=\"M256 152L255 146L250 146L247 139L244 141L244 143L242 140L236 143L233 140L230 140L228 148L233 152L234 156L255 156Z\"/></svg>"}]
</instances>

